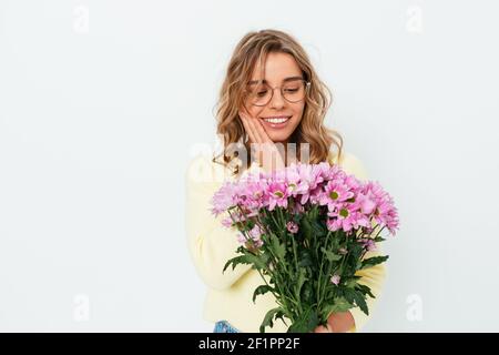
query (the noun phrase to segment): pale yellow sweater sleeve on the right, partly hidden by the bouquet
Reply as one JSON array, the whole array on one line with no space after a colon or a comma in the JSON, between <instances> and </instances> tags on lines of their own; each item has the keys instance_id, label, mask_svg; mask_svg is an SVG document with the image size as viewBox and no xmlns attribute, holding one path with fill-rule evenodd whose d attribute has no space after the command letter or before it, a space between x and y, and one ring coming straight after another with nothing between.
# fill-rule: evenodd
<instances>
[{"instance_id":1,"label":"pale yellow sweater sleeve on the right, partly hidden by the bouquet","mask_svg":"<svg viewBox=\"0 0 499 355\"><path fill-rule=\"evenodd\" d=\"M354 174L359 180L367 180L367 172L359 159L353 154L346 155L344 160L343 169L349 173ZM379 229L377 230L379 231ZM379 243L376 243L376 250L367 252L364 258L380 256L383 255ZM369 268L359 270L356 273L359 278L359 284L366 285L370 288L375 298L367 296L366 303L369 311L369 315L366 315L360 307L354 307L350 311L352 316L355 321L355 326L349 332L360 332L360 329L366 325L376 308L377 301L381 294L381 288L386 278L386 267L385 264L378 264Z\"/></svg>"}]
</instances>

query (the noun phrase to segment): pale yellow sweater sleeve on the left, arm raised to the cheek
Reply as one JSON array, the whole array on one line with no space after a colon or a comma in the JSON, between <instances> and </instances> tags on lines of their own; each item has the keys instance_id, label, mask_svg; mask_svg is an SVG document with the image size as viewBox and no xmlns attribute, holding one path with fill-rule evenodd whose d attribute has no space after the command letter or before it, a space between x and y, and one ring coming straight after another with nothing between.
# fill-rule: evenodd
<instances>
[{"instance_id":1,"label":"pale yellow sweater sleeve on the left, arm raised to the cheek","mask_svg":"<svg viewBox=\"0 0 499 355\"><path fill-rule=\"evenodd\" d=\"M230 266L222 272L225 263L236 256L240 245L237 232L222 225L224 216L211 212L211 199L222 186L223 173L222 165L215 166L210 156L203 155L194 158L185 172L189 251L198 275L214 290L231 287L251 267L236 265L234 270Z\"/></svg>"}]
</instances>

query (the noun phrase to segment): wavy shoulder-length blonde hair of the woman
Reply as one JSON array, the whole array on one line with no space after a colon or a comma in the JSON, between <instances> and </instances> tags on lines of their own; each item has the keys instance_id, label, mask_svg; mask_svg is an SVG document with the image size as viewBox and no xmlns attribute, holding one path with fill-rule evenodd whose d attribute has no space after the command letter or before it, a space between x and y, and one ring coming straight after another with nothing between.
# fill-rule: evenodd
<instances>
[{"instance_id":1,"label":"wavy shoulder-length blonde hair of the woman","mask_svg":"<svg viewBox=\"0 0 499 355\"><path fill-rule=\"evenodd\" d=\"M251 80L253 70L257 62L263 64L271 52L282 52L293 55L302 70L304 79L310 82L309 90L305 98L303 118L298 126L289 138L289 143L309 143L309 163L316 164L328 161L332 146L338 150L338 158L342 155L343 138L334 130L324 125L324 119L332 104L332 92L327 85L320 81L312 67L310 60L303 47L289 34L278 30L261 30L246 33L234 49L228 62L225 79L220 90L220 98L216 109L217 134L223 136L223 152L213 158L213 162L232 165L236 158L236 152L230 151L228 146L244 144L249 162L251 148L247 142L243 122L238 115L238 109L243 108L245 99L246 83ZM262 72L264 67L261 65ZM301 150L297 149L297 159L301 160ZM222 162L217 158L223 158ZM238 174L242 170L234 166L233 173Z\"/></svg>"}]
</instances>

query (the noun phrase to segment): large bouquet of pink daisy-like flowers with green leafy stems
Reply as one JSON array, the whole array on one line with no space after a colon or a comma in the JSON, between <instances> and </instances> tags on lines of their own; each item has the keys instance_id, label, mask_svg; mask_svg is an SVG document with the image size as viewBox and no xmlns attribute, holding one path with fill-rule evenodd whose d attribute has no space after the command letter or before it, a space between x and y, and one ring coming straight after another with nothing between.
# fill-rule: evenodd
<instances>
[{"instance_id":1,"label":"large bouquet of pink daisy-like flowers with green leafy stems","mask_svg":"<svg viewBox=\"0 0 499 355\"><path fill-rule=\"evenodd\" d=\"M377 182L326 162L297 163L225 182L212 206L241 242L223 271L252 265L263 280L253 302L265 293L276 298L259 332L278 318L289 333L306 333L327 324L333 312L358 306L368 314L366 300L374 295L356 272L388 258L364 256L385 241L385 229L391 235L398 229L393 199Z\"/></svg>"}]
</instances>

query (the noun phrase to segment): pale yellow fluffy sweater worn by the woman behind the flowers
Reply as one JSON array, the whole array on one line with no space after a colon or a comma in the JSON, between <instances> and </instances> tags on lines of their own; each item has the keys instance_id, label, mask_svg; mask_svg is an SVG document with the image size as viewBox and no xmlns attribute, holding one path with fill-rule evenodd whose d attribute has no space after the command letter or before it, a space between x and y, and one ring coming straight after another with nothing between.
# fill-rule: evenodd
<instances>
[{"instance_id":1,"label":"pale yellow fluffy sweater worn by the woman behind the flowers","mask_svg":"<svg viewBox=\"0 0 499 355\"><path fill-rule=\"evenodd\" d=\"M330 153L330 163L337 163L336 154ZM360 180L367 174L361 162L353 154L342 154L339 165ZM261 168L253 163L244 173L258 171ZM212 162L211 155L200 154L191 160L185 172L186 183L186 232L190 254L195 268L207 286L204 303L204 318L210 322L227 321L241 332L258 332L258 327L271 308L277 306L272 293L259 295L253 303L253 292L263 281L259 274L249 265L237 265L235 270L228 267L222 273L225 263L236 255L240 245L236 232L221 224L222 215L215 217L211 213L210 200L220 189L224 180L234 181L228 169ZM381 253L377 251L366 254L371 257ZM360 283L370 287L376 298L367 298L369 316L375 308L386 276L384 264L357 272L363 276ZM355 320L350 332L359 332L369 316L359 307L349 310ZM266 332L286 332L286 325L278 320L274 327Z\"/></svg>"}]
</instances>

